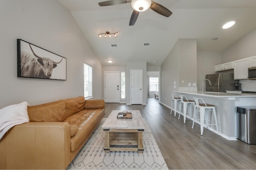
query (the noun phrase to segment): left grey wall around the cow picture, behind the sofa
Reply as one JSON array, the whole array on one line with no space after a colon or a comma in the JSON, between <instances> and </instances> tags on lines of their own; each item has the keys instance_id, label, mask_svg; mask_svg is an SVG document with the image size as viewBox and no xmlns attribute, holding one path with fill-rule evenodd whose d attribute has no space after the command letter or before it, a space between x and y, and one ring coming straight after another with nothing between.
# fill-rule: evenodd
<instances>
[{"instance_id":1,"label":"left grey wall around the cow picture, behind the sofa","mask_svg":"<svg viewBox=\"0 0 256 170\"><path fill-rule=\"evenodd\" d=\"M102 98L102 65L61 4L55 0L1 0L0 24L0 108L84 96L84 62L93 67L93 96ZM65 57L67 80L18 78L16 39Z\"/></svg>"}]
</instances>

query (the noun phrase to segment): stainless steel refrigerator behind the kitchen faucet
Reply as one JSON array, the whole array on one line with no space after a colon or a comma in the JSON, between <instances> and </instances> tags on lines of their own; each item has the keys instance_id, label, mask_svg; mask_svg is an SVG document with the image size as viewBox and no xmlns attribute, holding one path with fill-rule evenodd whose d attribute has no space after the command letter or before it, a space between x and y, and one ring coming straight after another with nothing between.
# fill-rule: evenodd
<instances>
[{"instance_id":1,"label":"stainless steel refrigerator behind the kitchen faucet","mask_svg":"<svg viewBox=\"0 0 256 170\"><path fill-rule=\"evenodd\" d=\"M210 86L209 82L205 81L206 92L226 92L226 90L235 90L234 83L238 83L238 80L234 80L234 73L206 74L206 79L209 79L212 83Z\"/></svg>"}]
</instances>

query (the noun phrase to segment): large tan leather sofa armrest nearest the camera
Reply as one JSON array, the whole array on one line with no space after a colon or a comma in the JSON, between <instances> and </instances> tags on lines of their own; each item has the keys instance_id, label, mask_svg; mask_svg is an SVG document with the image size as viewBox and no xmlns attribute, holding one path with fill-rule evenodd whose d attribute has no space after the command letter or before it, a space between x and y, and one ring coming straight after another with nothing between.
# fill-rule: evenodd
<instances>
[{"instance_id":1,"label":"large tan leather sofa armrest nearest the camera","mask_svg":"<svg viewBox=\"0 0 256 170\"><path fill-rule=\"evenodd\" d=\"M65 122L28 122L10 129L3 169L66 169L70 163L70 126Z\"/></svg>"}]
</instances>

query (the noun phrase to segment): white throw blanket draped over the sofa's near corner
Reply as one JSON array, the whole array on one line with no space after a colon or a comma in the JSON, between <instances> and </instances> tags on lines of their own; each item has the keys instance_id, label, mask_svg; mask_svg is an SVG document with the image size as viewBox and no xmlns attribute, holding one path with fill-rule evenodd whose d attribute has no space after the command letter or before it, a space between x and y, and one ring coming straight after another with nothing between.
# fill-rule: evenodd
<instances>
[{"instance_id":1,"label":"white throw blanket draped over the sofa's near corner","mask_svg":"<svg viewBox=\"0 0 256 170\"><path fill-rule=\"evenodd\" d=\"M29 122L28 106L28 102L22 102L0 109L0 139L15 125Z\"/></svg>"}]
</instances>

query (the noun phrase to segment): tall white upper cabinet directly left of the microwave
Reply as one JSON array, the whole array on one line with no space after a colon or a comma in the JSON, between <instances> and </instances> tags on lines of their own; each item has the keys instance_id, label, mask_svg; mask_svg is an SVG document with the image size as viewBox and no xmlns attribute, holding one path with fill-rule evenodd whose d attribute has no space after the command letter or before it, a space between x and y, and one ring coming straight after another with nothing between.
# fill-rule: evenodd
<instances>
[{"instance_id":1,"label":"tall white upper cabinet directly left of the microwave","mask_svg":"<svg viewBox=\"0 0 256 170\"><path fill-rule=\"evenodd\" d=\"M234 61L234 79L248 79L249 58Z\"/></svg>"}]
</instances>

